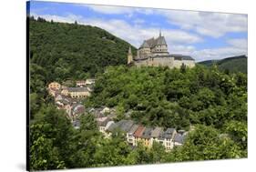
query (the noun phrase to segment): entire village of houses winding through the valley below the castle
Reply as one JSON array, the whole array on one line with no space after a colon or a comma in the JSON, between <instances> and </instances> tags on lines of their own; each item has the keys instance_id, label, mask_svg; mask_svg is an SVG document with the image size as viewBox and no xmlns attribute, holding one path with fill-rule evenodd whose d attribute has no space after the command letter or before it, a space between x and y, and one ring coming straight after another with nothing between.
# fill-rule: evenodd
<instances>
[{"instance_id":1,"label":"entire village of houses winding through the valley below the castle","mask_svg":"<svg viewBox=\"0 0 256 172\"><path fill-rule=\"evenodd\" d=\"M154 142L158 142L165 147L166 151L169 151L173 147L181 146L184 143L188 134L184 130L177 131L173 127L164 130L163 127L159 126L142 126L136 124L133 120L125 119L115 122L117 117L115 108L107 106L86 108L82 105L82 99L91 95L94 85L95 79L76 81L75 87L62 86L57 82L52 82L48 85L48 93L54 97L57 109L65 110L72 125L77 129L80 127L79 116L92 114L97 121L99 132L105 138L121 131L132 147L138 146L138 142L141 142L145 147L152 147ZM129 113L126 116L129 116Z\"/></svg>"}]
</instances>

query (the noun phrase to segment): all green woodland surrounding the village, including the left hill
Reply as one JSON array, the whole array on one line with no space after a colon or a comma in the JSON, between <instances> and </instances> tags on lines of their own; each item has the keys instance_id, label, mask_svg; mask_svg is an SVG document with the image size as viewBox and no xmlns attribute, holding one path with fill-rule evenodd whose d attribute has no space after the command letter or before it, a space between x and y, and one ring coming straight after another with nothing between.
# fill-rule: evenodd
<instances>
[{"instance_id":1,"label":"all green woodland surrounding the village, including the left hill","mask_svg":"<svg viewBox=\"0 0 256 172\"><path fill-rule=\"evenodd\" d=\"M247 157L246 74L218 66L123 66L128 43L100 28L42 18L29 23L31 170ZM194 129L170 152L158 143L130 147L122 133L103 139L90 114L80 116L75 129L47 95L46 83L87 76L97 79L87 107L116 107L117 120L131 112L145 126Z\"/></svg>"}]
</instances>

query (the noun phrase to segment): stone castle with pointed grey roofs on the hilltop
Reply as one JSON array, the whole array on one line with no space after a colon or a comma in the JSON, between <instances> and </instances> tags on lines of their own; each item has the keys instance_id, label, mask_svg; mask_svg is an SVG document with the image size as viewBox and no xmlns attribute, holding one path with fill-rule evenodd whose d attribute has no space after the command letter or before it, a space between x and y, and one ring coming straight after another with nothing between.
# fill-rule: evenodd
<instances>
[{"instance_id":1,"label":"stone castle with pointed grey roofs on the hilltop","mask_svg":"<svg viewBox=\"0 0 256 172\"><path fill-rule=\"evenodd\" d=\"M158 38L144 40L139 46L137 56L133 58L131 49L128 49L128 65L134 66L195 66L195 60L191 56L171 55L165 37L159 32Z\"/></svg>"}]
</instances>

